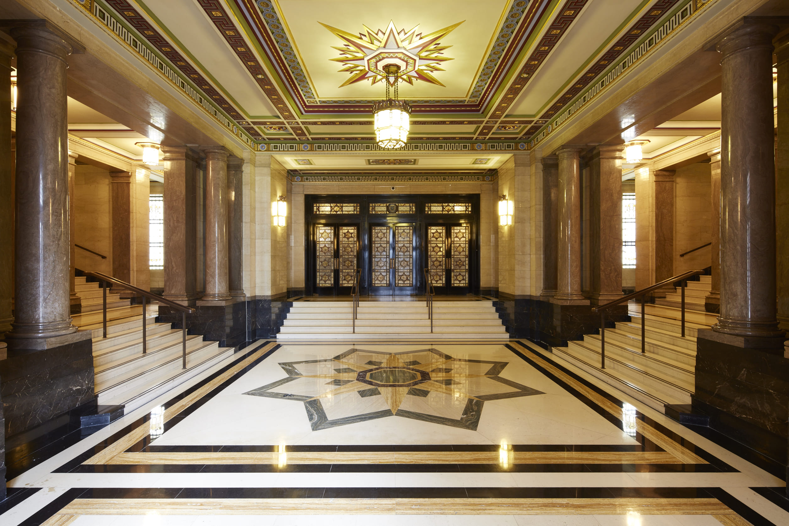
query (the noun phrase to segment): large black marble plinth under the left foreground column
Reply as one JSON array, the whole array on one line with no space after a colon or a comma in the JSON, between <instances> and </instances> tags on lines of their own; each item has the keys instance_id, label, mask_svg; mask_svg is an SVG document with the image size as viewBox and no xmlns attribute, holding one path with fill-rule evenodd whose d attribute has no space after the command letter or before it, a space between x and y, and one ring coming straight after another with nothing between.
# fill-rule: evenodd
<instances>
[{"instance_id":1,"label":"large black marble plinth under the left foreground column","mask_svg":"<svg viewBox=\"0 0 789 526\"><path fill-rule=\"evenodd\" d=\"M39 426L94 399L92 341L0 360L6 437Z\"/></svg>"}]
</instances>

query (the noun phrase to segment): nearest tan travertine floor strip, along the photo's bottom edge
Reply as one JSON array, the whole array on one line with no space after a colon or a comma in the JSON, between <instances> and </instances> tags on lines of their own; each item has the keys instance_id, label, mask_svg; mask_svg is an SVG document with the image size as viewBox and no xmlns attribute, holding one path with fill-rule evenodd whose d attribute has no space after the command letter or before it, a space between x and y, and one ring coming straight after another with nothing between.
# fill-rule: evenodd
<instances>
[{"instance_id":1,"label":"nearest tan travertine floor strip, along the photo's bottom edge","mask_svg":"<svg viewBox=\"0 0 789 526\"><path fill-rule=\"evenodd\" d=\"M716 515L716 498L78 498L62 515ZM739 526L739 524L738 524Z\"/></svg>"}]
</instances>

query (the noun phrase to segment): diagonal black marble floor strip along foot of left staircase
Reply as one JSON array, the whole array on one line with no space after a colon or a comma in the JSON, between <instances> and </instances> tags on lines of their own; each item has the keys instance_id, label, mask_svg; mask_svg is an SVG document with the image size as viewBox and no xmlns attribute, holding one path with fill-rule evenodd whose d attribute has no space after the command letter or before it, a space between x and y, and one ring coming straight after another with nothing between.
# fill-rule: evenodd
<instances>
[{"instance_id":1,"label":"diagonal black marble floor strip along foot of left staircase","mask_svg":"<svg viewBox=\"0 0 789 526\"><path fill-rule=\"evenodd\" d=\"M258 340L258 341L260 341L260 340ZM214 379L219 377L219 375L222 375L224 372L230 370L232 367L237 365L239 362L245 360L249 356L252 356L253 353L256 353L258 350L262 349L265 345L267 345L269 343L276 343L276 342L275 341L271 341L271 340L264 340L264 341L262 341L262 343L260 343L260 345L257 345L254 349L249 349L248 351L245 351L245 352L236 353L236 354L239 354L240 356L237 356L236 359L233 360L230 364L225 365L224 367L219 369L219 371L215 371L215 372L211 373L211 375L208 375L206 378L200 380L200 382L197 382L195 385L185 389L180 394L170 398L170 400L166 401L163 404L163 407L166 409L166 408L171 407L172 405L177 404L178 401L181 401L185 397L188 397L190 394L194 393L196 390L198 390L201 387L205 386L208 382L213 381ZM260 356L260 358L258 358L254 362L252 362L252 364L249 364L247 367L244 367L243 369L241 369L241 371L237 371L237 373L234 374L231 377L231 379L237 379L239 375L245 374L252 367L256 366L257 364L260 364L260 362L262 360L266 359L268 356L271 356L271 353L274 353L280 347L281 347L281 345L279 345L279 344L275 345L273 348L268 350L267 353L264 353L263 356ZM226 383L227 382L222 382L222 385L225 385ZM215 391L216 390L212 390L211 391L211 396L215 396ZM201 397L200 400L195 401L195 404L202 405L202 404L205 403L205 401L208 401L208 398ZM191 408L191 407L193 407L193 405L190 405L189 407ZM181 416L181 418L178 419L176 417L174 422L168 421L167 424L170 424L170 427L172 427L175 423L178 423L180 420L182 420L185 417L185 416L183 416L183 412L179 413L178 416ZM128 435L131 431L135 430L137 427L140 427L144 423L147 423L147 422L150 422L150 421L151 421L151 413L147 413L147 414L145 414L143 416L140 416L140 418L138 418L137 420L134 420L132 423L129 423L128 425L126 425L122 429L119 429L118 431L114 432L114 434L110 435L109 437L104 439L102 442L99 442L95 446L92 446L90 449L85 450L83 453L80 453L76 457L73 457L71 460L65 462L65 464L62 464L59 468L54 469L52 472L53 473L68 473L68 472L71 472L74 468L77 468L77 466L82 464L84 461L87 461L90 457L92 457L96 453L99 453L99 452L103 451L104 449L106 449L107 447L111 446L115 442L118 442L118 440L120 440L121 438L125 437L125 435ZM166 424L165 428L167 428L167 424Z\"/></svg>"}]
</instances>

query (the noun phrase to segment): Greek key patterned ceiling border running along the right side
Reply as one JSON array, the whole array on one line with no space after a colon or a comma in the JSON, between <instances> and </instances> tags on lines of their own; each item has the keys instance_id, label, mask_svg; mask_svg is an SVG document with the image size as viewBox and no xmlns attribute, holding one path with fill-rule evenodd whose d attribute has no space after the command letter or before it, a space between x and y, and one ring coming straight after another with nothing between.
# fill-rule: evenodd
<instances>
[{"instance_id":1,"label":"Greek key patterned ceiling border running along the right side","mask_svg":"<svg viewBox=\"0 0 789 526\"><path fill-rule=\"evenodd\" d=\"M712 6L712 4L716 2L717 0L687 0L679 4L679 6L676 6L676 9L673 10L673 14L669 13L671 16L663 24L653 27L653 31L647 32L645 35L640 35L640 38L636 41L635 49L631 47L632 50L623 60L619 60L618 58L613 61L615 64L608 66L608 70L603 78L600 78L600 80L591 86L587 84L587 89L583 94L580 95L578 99L575 99L574 103L569 107L566 107L563 112L556 114L551 121L546 122L543 120L544 124L539 126L534 125L526 130L522 136L522 140L530 138L529 148L533 148L535 145L540 144L545 137L555 132L556 129L567 122L567 120L578 112L581 107L585 106L597 95L600 95L602 91L607 90L611 84L615 83L615 80L622 78L623 73L629 72L632 65L652 54L654 50L662 47L662 44L676 35L686 26L687 22L692 21L698 13L704 12L709 6ZM664 20L664 16L660 16L660 20ZM616 44L613 47L616 47ZM621 55L619 56L621 57Z\"/></svg>"}]
</instances>

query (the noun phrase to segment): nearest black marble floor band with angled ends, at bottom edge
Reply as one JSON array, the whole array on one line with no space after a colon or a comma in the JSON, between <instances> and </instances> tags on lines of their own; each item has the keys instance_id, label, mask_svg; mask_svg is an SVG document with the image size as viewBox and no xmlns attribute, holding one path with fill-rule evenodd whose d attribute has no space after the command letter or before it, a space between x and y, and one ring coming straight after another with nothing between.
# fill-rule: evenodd
<instances>
[{"instance_id":1,"label":"nearest black marble floor band with angled ends, at bottom edge","mask_svg":"<svg viewBox=\"0 0 789 526\"><path fill-rule=\"evenodd\" d=\"M39 526L77 498L716 498L753 526L776 526L720 487L234 487L73 488L21 526Z\"/></svg>"}]
</instances>

